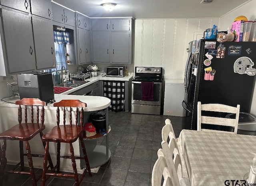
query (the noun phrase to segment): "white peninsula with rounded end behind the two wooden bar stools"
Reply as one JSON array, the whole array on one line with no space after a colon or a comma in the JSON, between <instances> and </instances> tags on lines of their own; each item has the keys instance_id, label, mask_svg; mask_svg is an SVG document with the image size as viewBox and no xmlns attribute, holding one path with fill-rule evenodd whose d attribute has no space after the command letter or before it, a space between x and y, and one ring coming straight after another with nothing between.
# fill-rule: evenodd
<instances>
[{"instance_id":1,"label":"white peninsula with rounded end behind the two wooden bar stools","mask_svg":"<svg viewBox=\"0 0 256 186\"><path fill-rule=\"evenodd\" d=\"M64 94L54 94L54 99L56 102L64 99L76 99L87 104L87 107L84 108L85 114L89 114L91 112L97 112L98 110L106 109L108 111L108 106L110 105L110 99L102 97L102 96L78 96L78 95L64 95ZM15 103L16 100L12 102ZM24 113L23 113L24 114ZM6 102L0 102L0 132L11 128L12 126L18 123L18 105ZM108 123L108 112L106 112L106 123ZM56 107L53 104L48 104L45 106L45 121L44 124L46 129L43 131L44 134L48 132L52 127L56 126ZM106 135L106 141L108 136ZM2 142L2 141L1 141ZM80 154L79 148L79 140L74 142L74 153L75 155ZM31 151L34 154L44 154L44 148L42 146L42 141L40 136L37 135L30 140L30 147ZM110 158L110 152L108 150L106 144L106 160ZM90 150L89 150L90 151ZM88 154L90 152L87 152ZM53 162L56 162L56 144L50 143L49 145L49 152L51 154ZM63 156L68 156L69 154L69 145L62 144L61 154ZM105 154L104 154L105 155ZM19 162L19 143L18 141L7 141L7 150L6 150L6 157L8 164L17 164ZM89 159L90 162L90 159ZM33 164L35 168L42 168L43 166L43 158L33 157ZM80 160L76 160L76 164L80 165ZM28 166L27 162L25 161L25 166ZM62 160L60 163L61 171L66 172L73 172L72 164L69 160ZM82 172L82 168L77 166L78 172Z\"/></svg>"}]
</instances>

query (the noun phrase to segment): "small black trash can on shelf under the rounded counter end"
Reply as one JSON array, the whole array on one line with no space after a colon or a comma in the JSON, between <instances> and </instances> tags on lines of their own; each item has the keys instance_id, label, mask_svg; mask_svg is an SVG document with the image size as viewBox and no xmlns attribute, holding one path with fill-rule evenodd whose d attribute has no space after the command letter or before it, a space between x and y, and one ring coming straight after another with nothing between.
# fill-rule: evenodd
<instances>
[{"instance_id":1,"label":"small black trash can on shelf under the rounded counter end","mask_svg":"<svg viewBox=\"0 0 256 186\"><path fill-rule=\"evenodd\" d=\"M106 131L106 113L95 112L90 114L92 124L96 128L96 132Z\"/></svg>"}]
</instances>

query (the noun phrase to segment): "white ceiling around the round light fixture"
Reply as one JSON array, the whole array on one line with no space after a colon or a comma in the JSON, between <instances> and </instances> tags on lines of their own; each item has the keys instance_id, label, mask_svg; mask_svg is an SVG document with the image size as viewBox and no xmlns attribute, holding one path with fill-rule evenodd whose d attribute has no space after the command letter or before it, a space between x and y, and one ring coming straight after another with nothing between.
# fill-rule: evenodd
<instances>
[{"instance_id":1,"label":"white ceiling around the round light fixture","mask_svg":"<svg viewBox=\"0 0 256 186\"><path fill-rule=\"evenodd\" d=\"M221 17L248 0L214 0L200 4L202 0L54 0L58 4L93 17L146 18L209 18ZM250 0L249 0L250 1ZM116 3L112 12L106 12L100 4ZM239 15L238 15L239 16Z\"/></svg>"}]
</instances>

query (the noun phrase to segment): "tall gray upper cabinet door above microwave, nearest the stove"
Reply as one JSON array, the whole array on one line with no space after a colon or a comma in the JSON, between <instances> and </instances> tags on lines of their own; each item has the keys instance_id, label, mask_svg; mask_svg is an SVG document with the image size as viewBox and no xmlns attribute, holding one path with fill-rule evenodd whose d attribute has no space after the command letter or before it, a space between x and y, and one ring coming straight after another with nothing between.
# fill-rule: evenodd
<instances>
[{"instance_id":1,"label":"tall gray upper cabinet door above microwave, nearest the stove","mask_svg":"<svg viewBox=\"0 0 256 186\"><path fill-rule=\"evenodd\" d=\"M111 44L112 63L129 63L129 32L111 32Z\"/></svg>"}]
</instances>

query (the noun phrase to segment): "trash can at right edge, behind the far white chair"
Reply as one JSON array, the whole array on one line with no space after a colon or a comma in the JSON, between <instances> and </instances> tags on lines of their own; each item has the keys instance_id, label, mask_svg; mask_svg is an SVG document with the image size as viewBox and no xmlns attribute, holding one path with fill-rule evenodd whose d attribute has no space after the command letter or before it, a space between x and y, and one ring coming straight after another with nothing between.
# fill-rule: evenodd
<instances>
[{"instance_id":1,"label":"trash can at right edge, behind the far white chair","mask_svg":"<svg viewBox=\"0 0 256 186\"><path fill-rule=\"evenodd\" d=\"M228 114L226 118L236 118L236 114ZM239 113L237 134L256 136L256 118L246 112Z\"/></svg>"}]
</instances>

